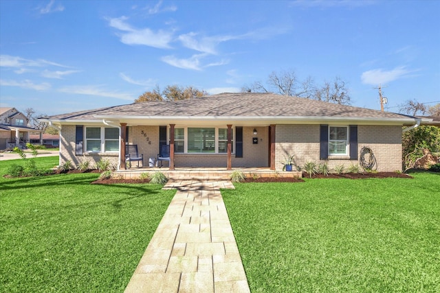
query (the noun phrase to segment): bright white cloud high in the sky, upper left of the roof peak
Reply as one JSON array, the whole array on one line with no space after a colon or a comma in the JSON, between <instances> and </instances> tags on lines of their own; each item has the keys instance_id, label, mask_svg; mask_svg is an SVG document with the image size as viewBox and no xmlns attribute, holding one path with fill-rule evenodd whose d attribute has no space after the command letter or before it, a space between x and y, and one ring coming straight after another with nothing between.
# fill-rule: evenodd
<instances>
[{"instance_id":1,"label":"bright white cloud high in the sky, upper left of the roof peak","mask_svg":"<svg viewBox=\"0 0 440 293\"><path fill-rule=\"evenodd\" d=\"M148 28L136 29L125 22L127 19L126 16L108 19L111 27L122 31L116 34L120 37L122 43L126 45L145 45L161 49L170 48L169 43L173 40L173 32L165 30L153 32L153 30Z\"/></svg>"}]
</instances>

